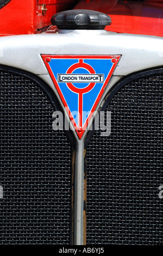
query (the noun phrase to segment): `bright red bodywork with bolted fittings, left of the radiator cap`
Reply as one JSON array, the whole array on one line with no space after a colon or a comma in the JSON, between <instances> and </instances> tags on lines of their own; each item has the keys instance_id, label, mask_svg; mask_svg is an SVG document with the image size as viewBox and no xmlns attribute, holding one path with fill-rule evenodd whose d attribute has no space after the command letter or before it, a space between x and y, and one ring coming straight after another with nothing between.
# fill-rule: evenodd
<instances>
[{"instance_id":1,"label":"bright red bodywork with bolted fittings, left of the radiator cap","mask_svg":"<svg viewBox=\"0 0 163 256\"><path fill-rule=\"evenodd\" d=\"M75 0L11 0L0 9L0 35L36 34L51 25L53 14L71 9ZM42 15L42 4L47 13Z\"/></svg>"}]
</instances>

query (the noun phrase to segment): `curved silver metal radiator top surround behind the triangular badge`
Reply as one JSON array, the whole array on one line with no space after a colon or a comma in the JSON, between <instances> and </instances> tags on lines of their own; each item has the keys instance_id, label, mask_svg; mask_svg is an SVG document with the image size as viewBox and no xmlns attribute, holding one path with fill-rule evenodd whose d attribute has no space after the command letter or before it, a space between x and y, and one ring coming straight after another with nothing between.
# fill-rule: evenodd
<instances>
[{"instance_id":1,"label":"curved silver metal radiator top surround behind the triangular badge","mask_svg":"<svg viewBox=\"0 0 163 256\"><path fill-rule=\"evenodd\" d=\"M100 55L121 54L114 75L163 65L163 38L106 31L50 31L38 35L3 36L0 39L0 63L48 75L40 54Z\"/></svg>"}]
</instances>

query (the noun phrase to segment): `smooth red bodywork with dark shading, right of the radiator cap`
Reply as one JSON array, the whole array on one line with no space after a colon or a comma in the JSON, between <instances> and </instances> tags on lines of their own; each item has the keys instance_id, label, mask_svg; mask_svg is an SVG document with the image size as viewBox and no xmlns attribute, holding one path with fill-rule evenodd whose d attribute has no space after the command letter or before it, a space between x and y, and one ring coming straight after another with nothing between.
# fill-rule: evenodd
<instances>
[{"instance_id":1,"label":"smooth red bodywork with dark shading, right of the radiator cap","mask_svg":"<svg viewBox=\"0 0 163 256\"><path fill-rule=\"evenodd\" d=\"M82 0L75 9L101 11L111 17L107 31L163 36L163 1Z\"/></svg>"}]
</instances>

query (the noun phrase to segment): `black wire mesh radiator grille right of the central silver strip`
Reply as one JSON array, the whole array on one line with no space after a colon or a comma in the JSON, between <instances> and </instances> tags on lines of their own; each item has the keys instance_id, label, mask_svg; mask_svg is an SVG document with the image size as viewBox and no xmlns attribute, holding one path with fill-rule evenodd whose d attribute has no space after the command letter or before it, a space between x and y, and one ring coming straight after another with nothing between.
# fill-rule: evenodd
<instances>
[{"instance_id":1,"label":"black wire mesh radiator grille right of the central silver strip","mask_svg":"<svg viewBox=\"0 0 163 256\"><path fill-rule=\"evenodd\" d=\"M87 244L163 242L163 75L130 82L112 98L111 135L87 148Z\"/></svg>"}]
</instances>

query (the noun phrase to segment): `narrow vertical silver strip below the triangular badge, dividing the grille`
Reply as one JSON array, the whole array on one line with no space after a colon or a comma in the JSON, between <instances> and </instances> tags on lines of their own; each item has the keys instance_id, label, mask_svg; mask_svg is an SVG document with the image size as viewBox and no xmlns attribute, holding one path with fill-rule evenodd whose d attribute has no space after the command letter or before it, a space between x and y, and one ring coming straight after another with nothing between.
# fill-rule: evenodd
<instances>
[{"instance_id":1,"label":"narrow vertical silver strip below the triangular badge, dividing the grille","mask_svg":"<svg viewBox=\"0 0 163 256\"><path fill-rule=\"evenodd\" d=\"M74 192L74 245L83 245L84 141L77 142Z\"/></svg>"}]
</instances>

